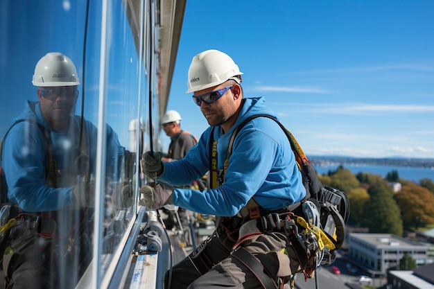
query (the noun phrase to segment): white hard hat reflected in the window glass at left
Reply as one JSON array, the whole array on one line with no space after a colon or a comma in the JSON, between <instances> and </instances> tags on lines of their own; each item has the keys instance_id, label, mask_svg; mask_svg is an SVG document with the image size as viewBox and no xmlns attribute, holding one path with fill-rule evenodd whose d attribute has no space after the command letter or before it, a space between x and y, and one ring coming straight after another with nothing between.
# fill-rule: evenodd
<instances>
[{"instance_id":1,"label":"white hard hat reflected in the window glass at left","mask_svg":"<svg viewBox=\"0 0 434 289\"><path fill-rule=\"evenodd\" d=\"M80 85L76 66L60 52L46 53L35 67L33 85L36 87L67 87Z\"/></svg>"}]
</instances>

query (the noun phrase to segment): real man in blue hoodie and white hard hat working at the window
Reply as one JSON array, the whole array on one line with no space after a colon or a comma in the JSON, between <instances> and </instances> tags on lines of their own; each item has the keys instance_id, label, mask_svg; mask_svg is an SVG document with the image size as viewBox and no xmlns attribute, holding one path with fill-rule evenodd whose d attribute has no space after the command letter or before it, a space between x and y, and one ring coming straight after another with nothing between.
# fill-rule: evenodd
<instances>
[{"instance_id":1,"label":"real man in blue hoodie and white hard hat working at the window","mask_svg":"<svg viewBox=\"0 0 434 289\"><path fill-rule=\"evenodd\" d=\"M204 247L173 267L170 288L277 288L299 267L297 259L289 259L289 240L277 222L278 213L289 214L289 206L306 195L284 131L272 119L253 119L238 132L226 159L232 132L243 121L257 114L278 118L264 98L243 98L241 74L225 53L196 55L187 92L194 93L210 128L183 159L162 162L159 153L143 155L144 172L156 174L160 182L140 189L141 204L150 209L175 204L223 216ZM211 179L219 182L213 189L173 189L161 183L189 183L203 175L210 162L219 173ZM214 169L211 172L214 177Z\"/></svg>"}]
</instances>

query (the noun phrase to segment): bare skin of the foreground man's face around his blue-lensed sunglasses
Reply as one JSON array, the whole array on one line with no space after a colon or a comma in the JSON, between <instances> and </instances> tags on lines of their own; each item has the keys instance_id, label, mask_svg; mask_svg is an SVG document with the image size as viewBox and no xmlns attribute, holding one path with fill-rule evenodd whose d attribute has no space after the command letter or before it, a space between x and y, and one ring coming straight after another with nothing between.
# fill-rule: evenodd
<instances>
[{"instance_id":1,"label":"bare skin of the foreground man's face around his blue-lensed sunglasses","mask_svg":"<svg viewBox=\"0 0 434 289\"><path fill-rule=\"evenodd\" d=\"M200 96L203 94L207 94L211 91L217 91L218 89L222 89L223 87L227 87L227 82L222 83L216 87L209 87L207 89L203 89L200 91L195 91L195 96ZM223 94L215 103L207 104L204 101L200 104L200 111L207 119L209 125L216 126L222 125L225 123L231 116L234 115L236 110L238 109L238 104L234 101L232 93L232 88L227 89L225 94Z\"/></svg>"}]
</instances>

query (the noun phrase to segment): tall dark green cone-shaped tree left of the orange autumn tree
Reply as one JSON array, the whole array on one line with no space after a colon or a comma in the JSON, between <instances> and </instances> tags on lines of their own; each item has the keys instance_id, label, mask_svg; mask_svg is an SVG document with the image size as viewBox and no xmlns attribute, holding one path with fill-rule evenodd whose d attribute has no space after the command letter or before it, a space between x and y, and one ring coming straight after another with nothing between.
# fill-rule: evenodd
<instances>
[{"instance_id":1,"label":"tall dark green cone-shaped tree left of the orange autumn tree","mask_svg":"<svg viewBox=\"0 0 434 289\"><path fill-rule=\"evenodd\" d=\"M370 201L365 204L365 226L370 233L403 235L403 225L397 203L393 200L392 189L385 182L372 184L367 191Z\"/></svg>"}]
</instances>

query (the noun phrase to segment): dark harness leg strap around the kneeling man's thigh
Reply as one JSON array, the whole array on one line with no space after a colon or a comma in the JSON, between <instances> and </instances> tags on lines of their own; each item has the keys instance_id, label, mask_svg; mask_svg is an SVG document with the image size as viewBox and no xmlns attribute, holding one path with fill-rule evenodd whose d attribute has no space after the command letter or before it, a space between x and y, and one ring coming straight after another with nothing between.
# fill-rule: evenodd
<instances>
[{"instance_id":1,"label":"dark harness leg strap around the kneeling man's thigh","mask_svg":"<svg viewBox=\"0 0 434 289\"><path fill-rule=\"evenodd\" d=\"M248 270L250 270L250 272L252 272L254 276L257 277L263 289L277 289L276 282L268 274L266 274L266 272L264 272L264 270L266 269L263 268L261 261L259 261L257 257L250 254L250 252L248 252L243 247L240 247L235 252L233 252L232 256L236 260L240 261L243 265L245 265L245 267L247 267Z\"/></svg>"}]
</instances>

